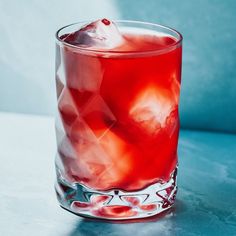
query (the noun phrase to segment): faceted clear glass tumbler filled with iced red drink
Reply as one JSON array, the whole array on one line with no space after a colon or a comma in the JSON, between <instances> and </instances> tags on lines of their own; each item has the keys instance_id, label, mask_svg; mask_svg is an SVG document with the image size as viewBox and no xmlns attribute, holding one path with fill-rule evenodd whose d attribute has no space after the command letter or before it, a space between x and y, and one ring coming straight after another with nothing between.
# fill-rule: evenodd
<instances>
[{"instance_id":1,"label":"faceted clear glass tumbler filled with iced red drink","mask_svg":"<svg viewBox=\"0 0 236 236\"><path fill-rule=\"evenodd\" d=\"M77 215L144 218L176 197L182 36L157 24L115 23L166 46L94 50L62 40L84 22L58 30L56 193Z\"/></svg>"}]
</instances>

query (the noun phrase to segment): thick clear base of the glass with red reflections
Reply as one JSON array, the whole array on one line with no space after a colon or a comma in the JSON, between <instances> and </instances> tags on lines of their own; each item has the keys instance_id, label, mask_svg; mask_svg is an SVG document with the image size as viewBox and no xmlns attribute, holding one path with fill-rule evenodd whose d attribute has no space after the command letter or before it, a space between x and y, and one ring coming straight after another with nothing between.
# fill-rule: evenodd
<instances>
[{"instance_id":1,"label":"thick clear base of the glass with red reflections","mask_svg":"<svg viewBox=\"0 0 236 236\"><path fill-rule=\"evenodd\" d=\"M150 217L169 209L177 193L177 168L168 182L142 190L97 191L82 184L70 184L57 176L56 193L61 206L85 217L125 220Z\"/></svg>"}]
</instances>

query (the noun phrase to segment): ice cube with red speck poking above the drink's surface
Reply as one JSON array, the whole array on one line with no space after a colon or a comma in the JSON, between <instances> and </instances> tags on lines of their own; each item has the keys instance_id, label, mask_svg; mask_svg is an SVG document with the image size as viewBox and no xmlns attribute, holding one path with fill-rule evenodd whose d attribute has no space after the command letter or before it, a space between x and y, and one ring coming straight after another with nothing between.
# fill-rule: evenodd
<instances>
[{"instance_id":1,"label":"ice cube with red speck poking above the drink's surface","mask_svg":"<svg viewBox=\"0 0 236 236\"><path fill-rule=\"evenodd\" d=\"M114 22L108 19L94 21L80 30L66 35L63 40L73 45L91 49L114 49L124 39Z\"/></svg>"}]
</instances>

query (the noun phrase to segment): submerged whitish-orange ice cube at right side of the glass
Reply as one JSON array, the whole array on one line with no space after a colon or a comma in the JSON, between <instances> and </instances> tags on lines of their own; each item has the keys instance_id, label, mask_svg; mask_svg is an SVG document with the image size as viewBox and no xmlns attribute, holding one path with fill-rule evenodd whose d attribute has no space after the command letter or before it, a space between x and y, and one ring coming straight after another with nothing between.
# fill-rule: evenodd
<instances>
[{"instance_id":1,"label":"submerged whitish-orange ice cube at right side of the glass","mask_svg":"<svg viewBox=\"0 0 236 236\"><path fill-rule=\"evenodd\" d=\"M155 134L166 125L176 101L167 89L150 86L135 99L129 114L149 134Z\"/></svg>"}]
</instances>

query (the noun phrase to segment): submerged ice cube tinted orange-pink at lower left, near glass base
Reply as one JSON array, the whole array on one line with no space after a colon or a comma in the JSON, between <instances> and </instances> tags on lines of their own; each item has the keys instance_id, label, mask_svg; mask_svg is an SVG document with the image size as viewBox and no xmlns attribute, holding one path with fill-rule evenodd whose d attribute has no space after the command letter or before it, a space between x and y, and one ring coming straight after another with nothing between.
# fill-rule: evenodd
<instances>
[{"instance_id":1,"label":"submerged ice cube tinted orange-pink at lower left, near glass base","mask_svg":"<svg viewBox=\"0 0 236 236\"><path fill-rule=\"evenodd\" d=\"M90 187L111 188L122 182L132 168L125 142L110 130L99 142L81 139L74 150L77 159L71 172Z\"/></svg>"}]
</instances>

